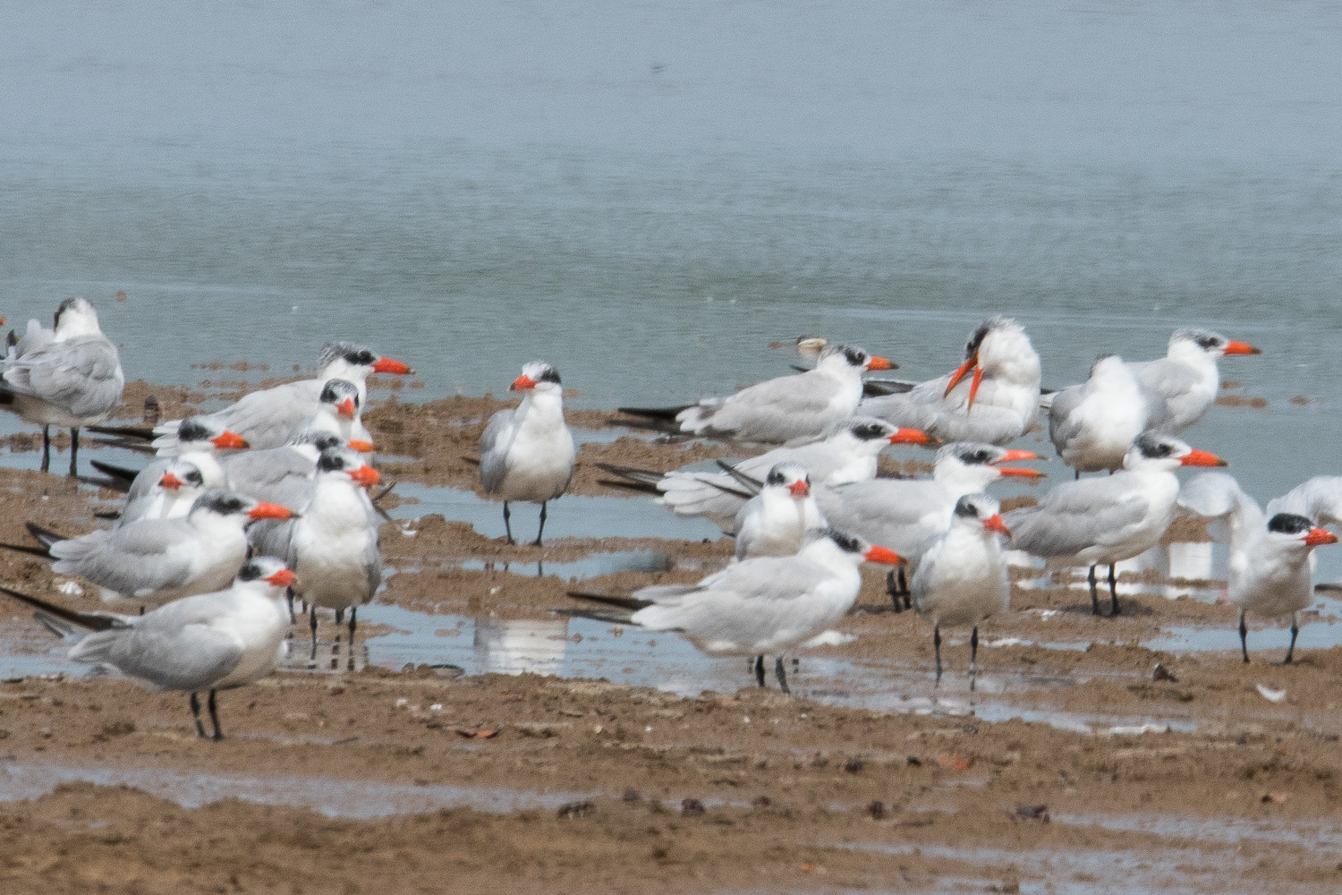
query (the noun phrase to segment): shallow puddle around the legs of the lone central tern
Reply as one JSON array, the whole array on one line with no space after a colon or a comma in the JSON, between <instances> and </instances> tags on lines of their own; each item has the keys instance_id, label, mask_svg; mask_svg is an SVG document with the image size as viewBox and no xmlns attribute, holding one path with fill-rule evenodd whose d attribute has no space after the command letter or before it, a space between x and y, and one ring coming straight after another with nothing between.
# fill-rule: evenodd
<instances>
[{"instance_id":1,"label":"shallow puddle around the legs of the lone central tern","mask_svg":"<svg viewBox=\"0 0 1342 895\"><path fill-rule=\"evenodd\" d=\"M488 538L503 537L503 503L484 501L474 491L435 487L405 482L396 486L403 498L416 498L417 503L403 503L391 511L393 519L417 519L439 513L444 519L468 522ZM513 503L513 537L530 541L535 537L539 507L531 503ZM545 537L548 538L671 538L680 541L717 541L722 537L718 526L706 519L686 519L675 515L651 499L593 498L568 494L552 501L546 507Z\"/></svg>"}]
</instances>

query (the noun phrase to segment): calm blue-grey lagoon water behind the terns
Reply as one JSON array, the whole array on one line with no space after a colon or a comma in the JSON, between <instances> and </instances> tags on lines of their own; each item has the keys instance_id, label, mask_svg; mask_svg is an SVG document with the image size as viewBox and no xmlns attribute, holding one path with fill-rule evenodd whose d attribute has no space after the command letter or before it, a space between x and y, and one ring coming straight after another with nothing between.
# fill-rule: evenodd
<instances>
[{"instance_id":1,"label":"calm blue-grey lagoon water behind the terns","mask_svg":"<svg viewBox=\"0 0 1342 895\"><path fill-rule=\"evenodd\" d=\"M1189 440L1266 499L1338 460L1338 12L7 3L0 313L87 295L154 381L346 335L588 407L803 333L927 377L1000 311L1064 385L1205 325L1268 407Z\"/></svg>"}]
</instances>

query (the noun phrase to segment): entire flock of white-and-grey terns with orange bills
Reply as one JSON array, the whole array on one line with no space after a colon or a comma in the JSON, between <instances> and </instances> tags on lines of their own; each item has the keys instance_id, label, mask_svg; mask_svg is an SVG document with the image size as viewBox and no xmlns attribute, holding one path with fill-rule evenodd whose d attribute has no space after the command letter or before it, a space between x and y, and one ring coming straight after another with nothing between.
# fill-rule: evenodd
<instances>
[{"instance_id":1,"label":"entire flock of white-and-grey terns with orange bills","mask_svg":"<svg viewBox=\"0 0 1342 895\"><path fill-rule=\"evenodd\" d=\"M813 369L684 407L620 408L624 424L670 440L739 447L743 459L719 460L717 470L601 467L607 484L718 525L735 538L730 564L694 585L572 592L588 608L558 612L747 656L760 686L773 657L786 690L784 656L854 607L863 562L880 564L891 566L895 611L913 609L931 624L938 682L941 629L972 629L973 686L978 625L1011 602L1012 551L1088 566L1096 616L1096 568L1107 566L1113 616L1121 612L1115 565L1192 515L1228 523L1228 596L1240 609L1244 662L1245 612L1290 619L1291 662L1299 612L1312 600L1312 550L1338 541L1323 526L1342 523L1342 478L1310 479L1264 511L1225 472L1182 484L1176 476L1185 466L1227 466L1177 436L1215 403L1217 362L1257 349L1181 329L1165 357L1102 356L1086 382L1057 392L1040 388L1039 354L1004 317L970 334L954 372L927 381L864 378L896 365L859 348L807 338L798 349L815 358ZM221 738L216 691L279 664L295 598L306 605L315 655L317 609L333 609L337 624L348 612L353 637L358 607L381 584L380 518L369 495L380 476L366 460L376 439L361 419L372 373L413 370L331 342L315 378L152 428L106 425L125 385L119 357L93 306L66 299L52 329L30 321L21 338L9 333L0 404L42 425L43 471L51 427L71 429L71 475L82 428L157 456L142 470L93 463L106 476L101 484L126 492L110 527L67 538L30 523L35 543L0 546L52 560L54 572L85 578L127 611L76 611L0 590L35 607L39 621L71 643L72 659L191 694L201 737L200 695L208 694L212 733ZM509 505L539 505L533 543L541 546L546 507L573 478L574 440L554 366L526 364L509 388L521 403L483 431L480 486L503 503L509 543ZM1009 466L1043 459L1009 447L1040 425L1040 413L1075 480L1004 514L985 491L1004 478L1041 476ZM935 448L931 478L878 478L878 455L891 445Z\"/></svg>"}]
</instances>

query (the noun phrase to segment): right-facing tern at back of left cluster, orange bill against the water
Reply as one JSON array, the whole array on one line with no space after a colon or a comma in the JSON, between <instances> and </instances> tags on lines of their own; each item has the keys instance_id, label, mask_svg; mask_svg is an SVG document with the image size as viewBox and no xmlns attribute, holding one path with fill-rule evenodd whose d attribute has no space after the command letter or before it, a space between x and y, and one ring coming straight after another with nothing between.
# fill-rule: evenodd
<instances>
[{"instance_id":1,"label":"right-facing tern at back of left cluster, orange bill against the water","mask_svg":"<svg viewBox=\"0 0 1342 895\"><path fill-rule=\"evenodd\" d=\"M372 373L413 373L411 368L388 357L378 357L362 345L333 342L322 349L318 358L321 372L314 380L286 382L275 388L252 392L223 411L205 419L224 429L236 432L256 450L280 447L294 432L307 428L318 411L322 390L331 380L348 380L358 389L358 404L368 399L368 377ZM154 447L160 452L177 450L180 420L169 420L154 427ZM126 433L126 429L121 429Z\"/></svg>"}]
</instances>

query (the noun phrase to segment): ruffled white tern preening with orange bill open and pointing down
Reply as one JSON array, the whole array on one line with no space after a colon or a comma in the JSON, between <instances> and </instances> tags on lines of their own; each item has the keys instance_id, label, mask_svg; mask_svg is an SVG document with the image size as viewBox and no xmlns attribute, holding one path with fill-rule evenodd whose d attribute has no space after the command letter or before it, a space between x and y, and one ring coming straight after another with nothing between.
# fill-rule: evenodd
<instances>
[{"instance_id":1,"label":"ruffled white tern preening with orange bill open and pointing down","mask_svg":"<svg viewBox=\"0 0 1342 895\"><path fill-rule=\"evenodd\" d=\"M954 373L892 382L899 393L868 397L858 413L922 429L942 441L1007 444L1039 417L1039 354L1013 319L993 317L965 345ZM882 382L868 382L868 389Z\"/></svg>"}]
</instances>

